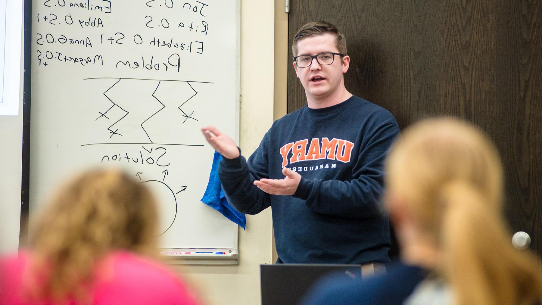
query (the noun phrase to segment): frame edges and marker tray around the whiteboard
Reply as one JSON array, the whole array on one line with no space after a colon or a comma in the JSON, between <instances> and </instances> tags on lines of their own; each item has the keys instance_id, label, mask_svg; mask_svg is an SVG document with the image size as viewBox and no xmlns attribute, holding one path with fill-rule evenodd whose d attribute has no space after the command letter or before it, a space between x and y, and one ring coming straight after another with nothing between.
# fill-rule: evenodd
<instances>
[{"instance_id":1,"label":"frame edges and marker tray around the whiteboard","mask_svg":"<svg viewBox=\"0 0 542 305\"><path fill-rule=\"evenodd\" d=\"M30 213L30 114L31 114L31 51L32 51L32 2L36 0L24 0L24 69L23 69L23 142L22 142L22 166L21 166L21 223L19 230L19 248L27 246L28 220ZM240 96L241 96L241 0L235 0L235 134L234 140L239 143L240 140ZM204 204L204 203L202 203ZM239 264L238 236L239 226L236 227L234 234L233 248L160 248L160 254L168 259L172 264L209 264L209 265L233 265ZM208 254L165 254L164 252L228 252L227 255L217 256Z\"/></svg>"}]
</instances>

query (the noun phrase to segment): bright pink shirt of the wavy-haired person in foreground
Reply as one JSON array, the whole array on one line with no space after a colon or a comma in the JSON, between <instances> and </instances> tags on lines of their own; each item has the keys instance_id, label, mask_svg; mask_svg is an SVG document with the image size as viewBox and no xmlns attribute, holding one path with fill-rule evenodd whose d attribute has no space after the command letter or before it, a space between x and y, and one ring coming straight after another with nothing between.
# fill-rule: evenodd
<instances>
[{"instance_id":1,"label":"bright pink shirt of the wavy-haired person in foreground","mask_svg":"<svg viewBox=\"0 0 542 305\"><path fill-rule=\"evenodd\" d=\"M28 259L28 254L21 253L0 260L0 305L30 305L24 302L22 295L23 270ZM198 304L183 282L153 259L119 251L106 256L98 266L92 291L93 305Z\"/></svg>"}]
</instances>

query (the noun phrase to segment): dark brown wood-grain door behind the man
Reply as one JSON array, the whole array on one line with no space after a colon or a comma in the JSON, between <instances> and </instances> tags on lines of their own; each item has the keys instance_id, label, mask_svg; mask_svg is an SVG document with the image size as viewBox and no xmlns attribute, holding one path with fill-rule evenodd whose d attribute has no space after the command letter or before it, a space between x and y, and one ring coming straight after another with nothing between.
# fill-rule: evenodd
<instances>
[{"instance_id":1,"label":"dark brown wood-grain door behind the man","mask_svg":"<svg viewBox=\"0 0 542 305\"><path fill-rule=\"evenodd\" d=\"M346 88L404 128L454 115L490 135L505 166L505 213L542 256L542 5L537 0L291 0L288 47L305 23L346 36ZM291 54L291 51L290 51ZM288 112L306 104L292 64Z\"/></svg>"}]
</instances>

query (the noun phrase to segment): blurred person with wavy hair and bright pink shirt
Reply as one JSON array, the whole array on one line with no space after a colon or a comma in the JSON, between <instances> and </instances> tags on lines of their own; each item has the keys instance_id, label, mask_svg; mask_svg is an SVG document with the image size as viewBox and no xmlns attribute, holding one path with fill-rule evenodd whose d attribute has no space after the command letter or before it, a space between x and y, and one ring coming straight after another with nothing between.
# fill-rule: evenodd
<instances>
[{"instance_id":1,"label":"blurred person with wavy hair and bright pink shirt","mask_svg":"<svg viewBox=\"0 0 542 305\"><path fill-rule=\"evenodd\" d=\"M30 249L0 261L0 304L197 304L157 261L157 203L116 170L81 174L33 226Z\"/></svg>"}]
</instances>

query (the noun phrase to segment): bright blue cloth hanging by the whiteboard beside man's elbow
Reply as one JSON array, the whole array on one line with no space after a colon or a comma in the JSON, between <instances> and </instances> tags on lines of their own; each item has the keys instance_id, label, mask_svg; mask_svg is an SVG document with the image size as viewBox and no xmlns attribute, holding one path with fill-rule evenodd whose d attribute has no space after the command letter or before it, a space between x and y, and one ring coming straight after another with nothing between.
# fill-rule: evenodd
<instances>
[{"instance_id":1,"label":"bright blue cloth hanging by the whiteboard beside man's elbow","mask_svg":"<svg viewBox=\"0 0 542 305\"><path fill-rule=\"evenodd\" d=\"M220 183L220 178L218 178L218 163L220 163L221 159L222 155L215 151L215 156L212 159L211 173L209 174L209 183L201 200L245 229L247 218L243 213L237 212L224 196L224 190L222 190L222 184Z\"/></svg>"}]
</instances>

